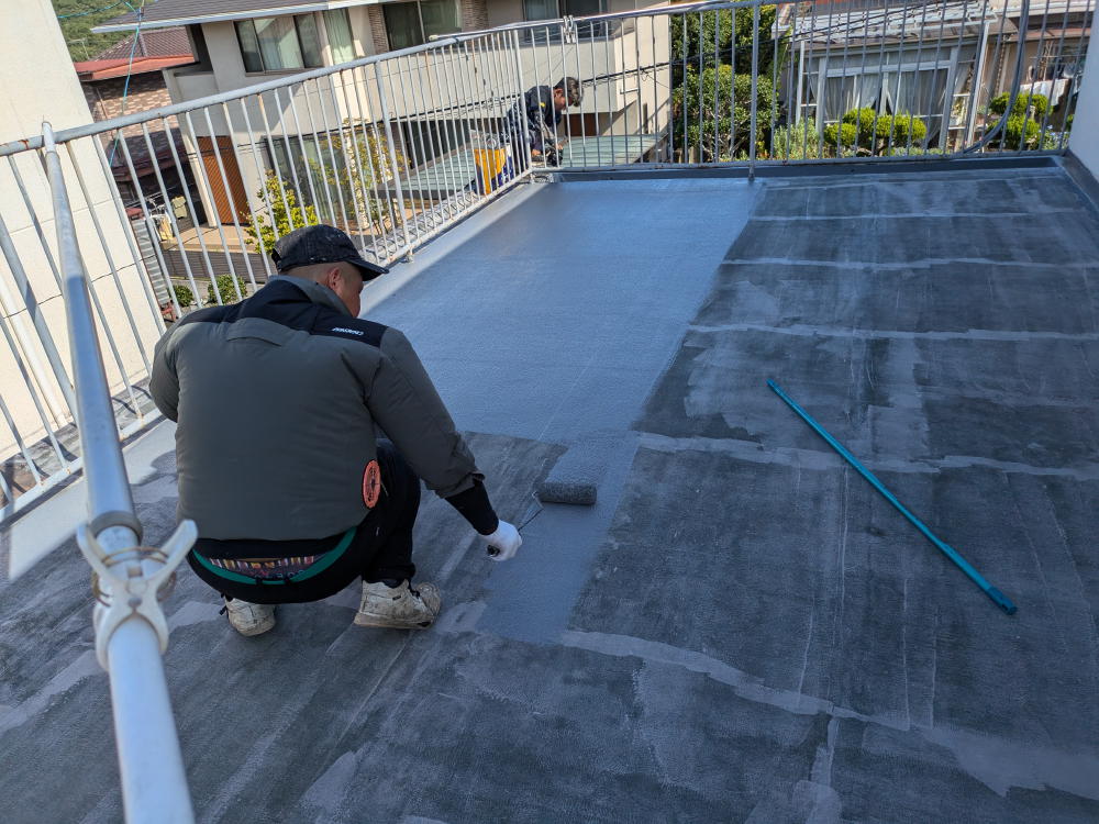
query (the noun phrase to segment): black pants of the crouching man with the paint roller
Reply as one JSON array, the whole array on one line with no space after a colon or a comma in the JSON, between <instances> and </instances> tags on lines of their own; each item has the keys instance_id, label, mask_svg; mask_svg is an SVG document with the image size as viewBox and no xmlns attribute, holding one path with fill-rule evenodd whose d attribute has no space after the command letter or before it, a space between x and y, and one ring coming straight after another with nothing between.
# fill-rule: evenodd
<instances>
[{"instance_id":1,"label":"black pants of the crouching man with the paint roller","mask_svg":"<svg viewBox=\"0 0 1099 824\"><path fill-rule=\"evenodd\" d=\"M231 581L202 566L195 553L187 561L195 574L225 598L252 603L304 603L334 595L356 578L404 580L415 575L412 525L420 509L420 479L388 441L378 442L381 498L359 523L343 555L328 569L300 582ZM195 549L208 558L279 558L318 555L332 549L343 534L318 541L213 541L200 538Z\"/></svg>"}]
</instances>

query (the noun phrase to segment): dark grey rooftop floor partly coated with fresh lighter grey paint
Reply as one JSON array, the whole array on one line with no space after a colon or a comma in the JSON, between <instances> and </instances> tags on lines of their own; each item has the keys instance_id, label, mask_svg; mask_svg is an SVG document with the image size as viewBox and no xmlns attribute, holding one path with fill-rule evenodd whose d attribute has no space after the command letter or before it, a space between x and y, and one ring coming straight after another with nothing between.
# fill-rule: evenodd
<instances>
[{"instance_id":1,"label":"dark grey rooftop floor partly coated with fresh lighter grey paint","mask_svg":"<svg viewBox=\"0 0 1099 824\"><path fill-rule=\"evenodd\" d=\"M201 821L1099 819L1099 221L1061 168L524 187L376 283L503 517L557 461L599 501L497 565L425 499L421 633L348 589L243 638L182 572ZM170 427L134 456L158 543ZM121 817L89 601L70 543L0 582L9 824Z\"/></svg>"}]
</instances>

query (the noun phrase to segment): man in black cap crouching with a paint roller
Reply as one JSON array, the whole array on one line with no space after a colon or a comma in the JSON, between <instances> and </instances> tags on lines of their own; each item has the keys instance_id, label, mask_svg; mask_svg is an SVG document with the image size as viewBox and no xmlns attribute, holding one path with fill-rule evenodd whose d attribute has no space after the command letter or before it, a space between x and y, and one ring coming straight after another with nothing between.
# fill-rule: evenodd
<instances>
[{"instance_id":1,"label":"man in black cap crouching with a paint roller","mask_svg":"<svg viewBox=\"0 0 1099 824\"><path fill-rule=\"evenodd\" d=\"M244 635L275 604L328 598L357 578L362 626L425 627L441 597L414 582L420 479L495 547L522 544L409 342L359 320L387 270L332 226L275 245L278 269L232 305L193 312L156 346L151 391L176 421L179 516L198 524L191 569ZM377 438L378 430L390 441Z\"/></svg>"}]
</instances>

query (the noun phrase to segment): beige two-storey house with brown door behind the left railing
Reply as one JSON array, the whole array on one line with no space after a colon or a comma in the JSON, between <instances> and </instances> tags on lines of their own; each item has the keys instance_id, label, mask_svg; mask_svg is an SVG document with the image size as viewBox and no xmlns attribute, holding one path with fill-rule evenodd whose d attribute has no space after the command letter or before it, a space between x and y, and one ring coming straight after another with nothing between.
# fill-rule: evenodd
<instances>
[{"instance_id":1,"label":"beige two-storey house with brown door behind the left railing","mask_svg":"<svg viewBox=\"0 0 1099 824\"><path fill-rule=\"evenodd\" d=\"M174 102L186 102L233 89L254 86L288 74L336 66L358 57L381 54L426 42L435 35L469 32L524 20L560 14L590 14L655 5L646 0L415 0L414 2L365 2L364 0L160 0L136 13L122 15L97 32L141 31L184 26L196 62L165 70ZM280 10L286 12L280 13ZM651 24L652 25L652 24ZM291 169L291 156L320 166L338 154L338 131L347 122L388 126L393 148L409 174L431 169L454 153L466 153L470 131L493 126L517 97L535 85L553 85L564 75L586 81L582 105L569 112L562 131L598 140L625 124L642 124L643 135L619 149L637 159L655 145L667 100L652 83L631 79L642 68L666 60L667 29L641 31L632 21L613 26L579 25L569 43L540 35L537 30L506 37L522 40L520 65L501 65L501 51L492 45L463 46L448 54L421 55L407 65L387 66L385 73L357 70L323 82L303 81L284 93L258 98L248 107L233 107L212 115L211 129L203 122L185 127L188 154L202 157L210 178L209 192L200 191L211 221L232 223L263 207L259 191L271 170L288 180L301 177ZM555 35L556 36L556 35ZM552 41L552 42L551 42ZM379 83L385 90L382 103ZM453 97L451 87L482 89L475 109L455 111L440 132L434 112ZM287 120L289 131L264 135L253 145L253 130ZM581 144L575 144L579 151ZM595 145L595 155L614 151L610 144ZM591 146L588 146L591 148ZM213 157L217 155L217 157ZM610 154L608 154L610 157ZM218 167L217 160L221 160ZM622 159L621 157L619 159ZM332 163L343 166L336 157ZM466 165L463 165L463 169ZM224 172L224 174L222 174ZM296 174L295 174L296 172ZM465 174L459 172L459 174ZM467 178L468 179L468 178ZM227 185L226 185L227 183ZM431 193L415 180L417 191ZM315 198L303 182L296 186L301 200Z\"/></svg>"}]
</instances>

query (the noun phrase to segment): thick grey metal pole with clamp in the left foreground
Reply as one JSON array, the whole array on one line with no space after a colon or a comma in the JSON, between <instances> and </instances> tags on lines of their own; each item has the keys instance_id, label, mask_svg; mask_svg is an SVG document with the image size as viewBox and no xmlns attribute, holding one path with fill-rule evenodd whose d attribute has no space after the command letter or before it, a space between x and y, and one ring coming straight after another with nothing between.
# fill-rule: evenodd
<instances>
[{"instance_id":1,"label":"thick grey metal pole with clamp in the left foreground","mask_svg":"<svg viewBox=\"0 0 1099 824\"><path fill-rule=\"evenodd\" d=\"M42 140L88 489L89 524L78 531L77 543L96 572L101 595L93 620L96 652L111 680L126 821L190 824L195 815L160 659L168 628L158 595L170 586L173 570L193 544L195 524L184 522L163 550L141 546L141 524L122 460L88 275L48 123L42 125Z\"/></svg>"}]
</instances>

